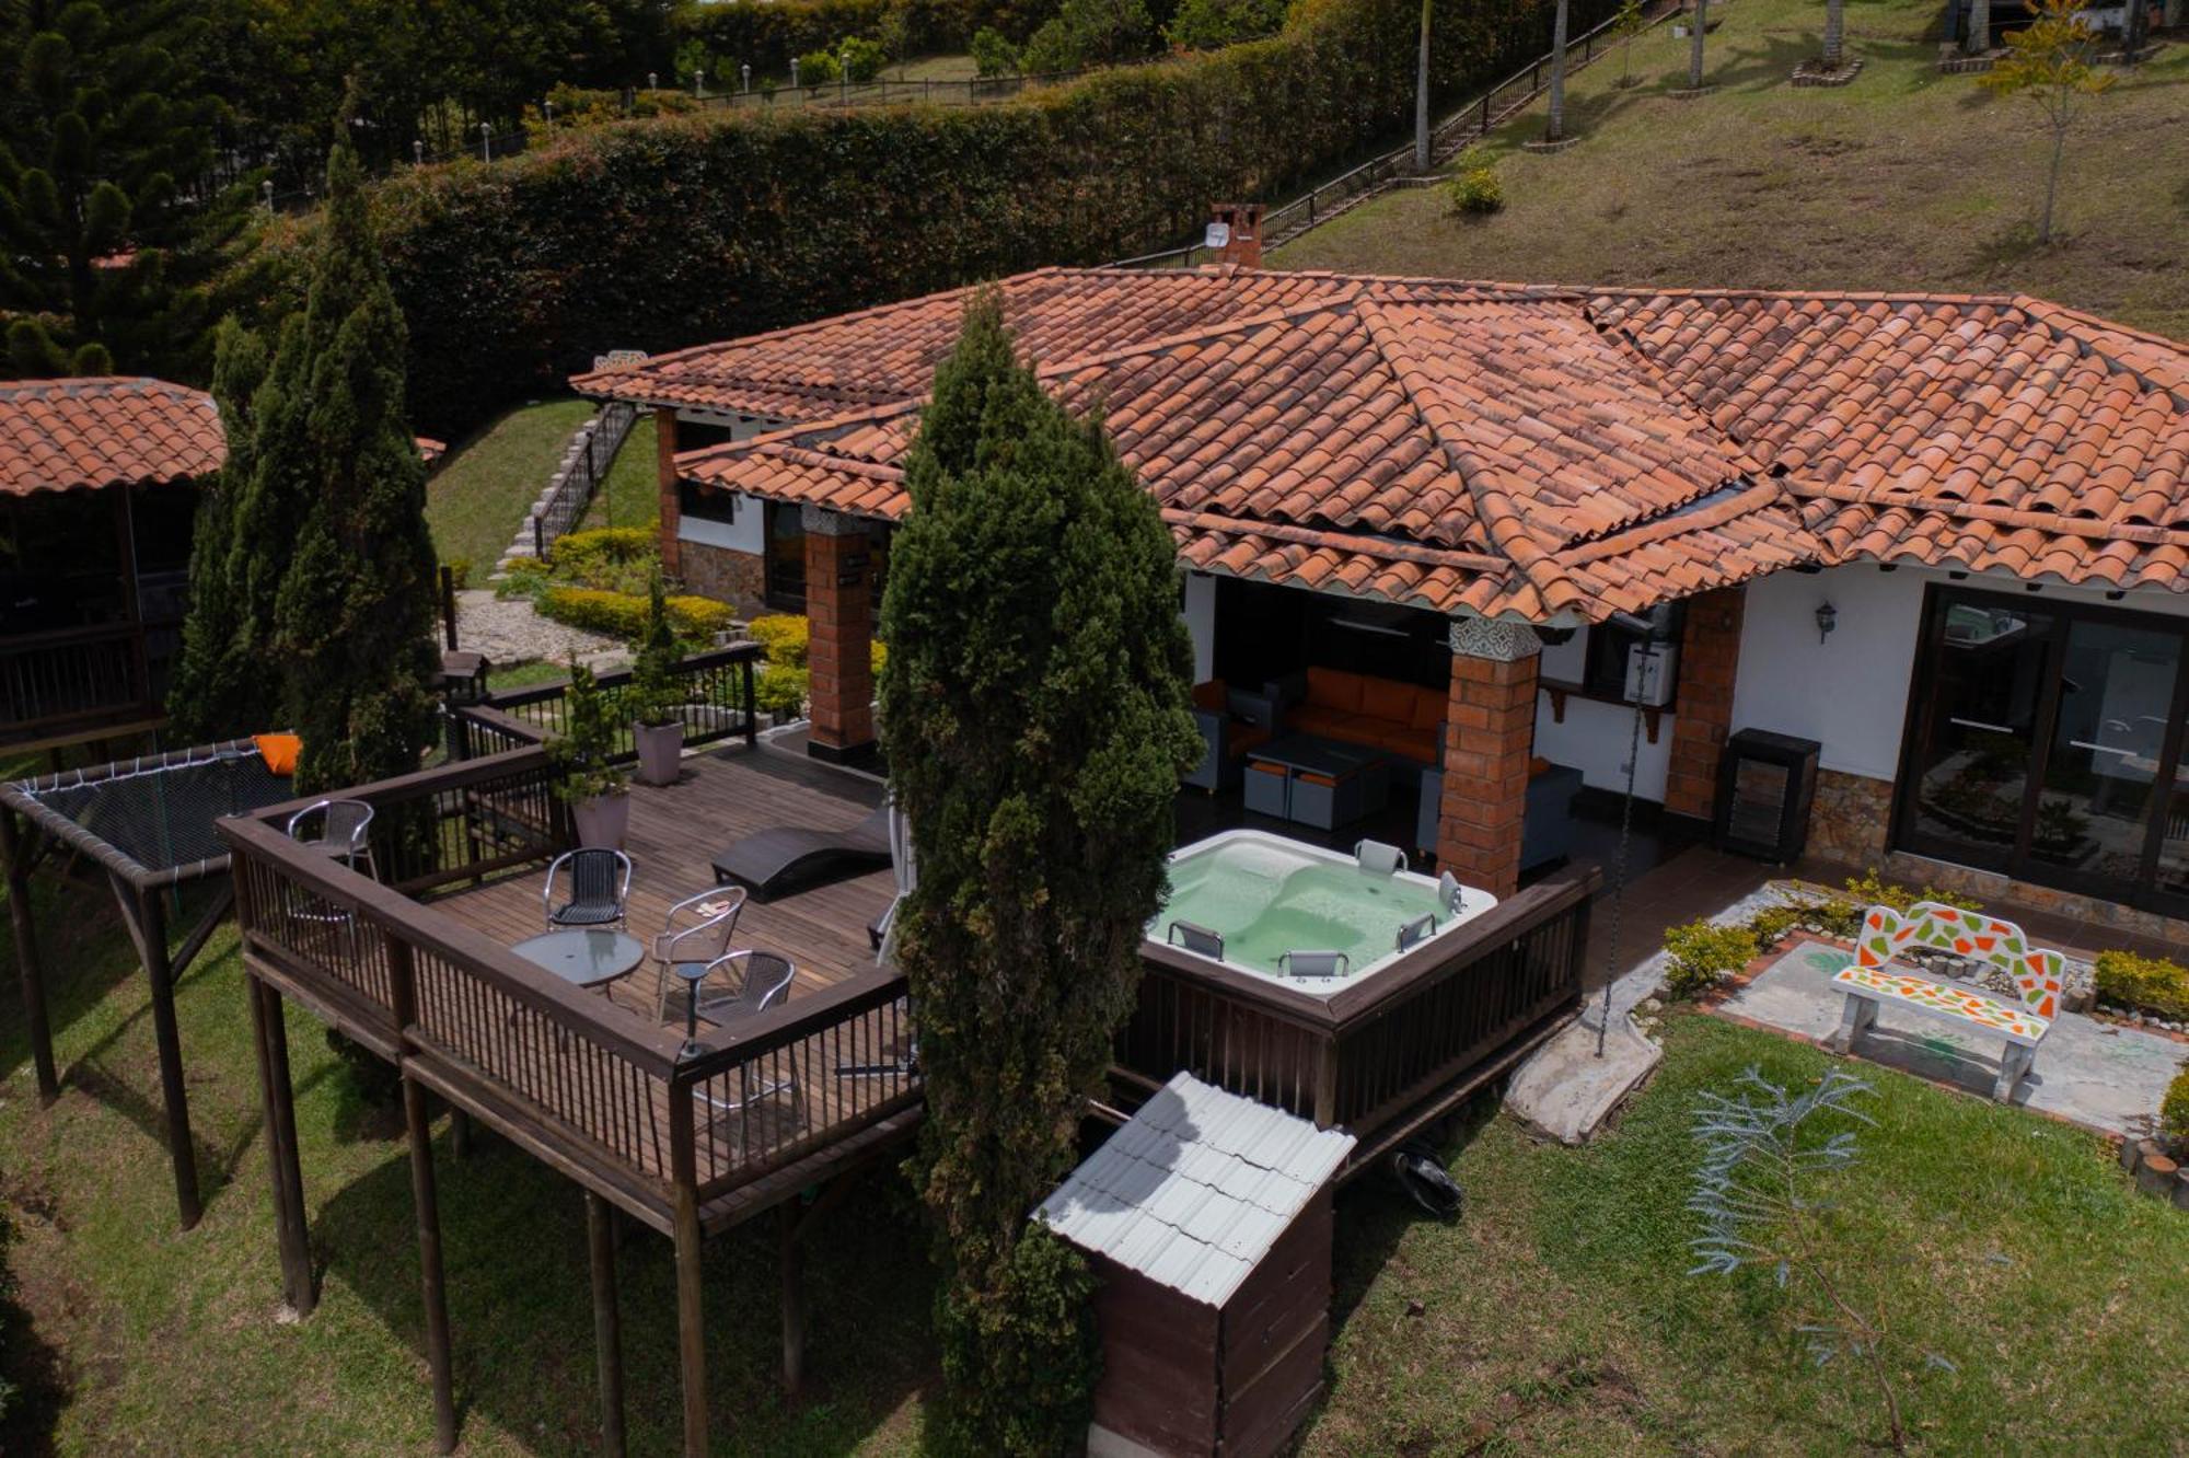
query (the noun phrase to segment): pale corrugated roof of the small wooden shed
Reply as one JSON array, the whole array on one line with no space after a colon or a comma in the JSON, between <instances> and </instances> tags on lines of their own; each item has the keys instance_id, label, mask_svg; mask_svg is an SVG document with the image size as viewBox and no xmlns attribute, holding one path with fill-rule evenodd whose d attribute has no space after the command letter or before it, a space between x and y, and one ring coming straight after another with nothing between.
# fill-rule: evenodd
<instances>
[{"instance_id":1,"label":"pale corrugated roof of the small wooden shed","mask_svg":"<svg viewBox=\"0 0 2189 1458\"><path fill-rule=\"evenodd\" d=\"M1035 1215L1081 1250L1221 1307L1353 1143L1180 1073Z\"/></svg>"}]
</instances>

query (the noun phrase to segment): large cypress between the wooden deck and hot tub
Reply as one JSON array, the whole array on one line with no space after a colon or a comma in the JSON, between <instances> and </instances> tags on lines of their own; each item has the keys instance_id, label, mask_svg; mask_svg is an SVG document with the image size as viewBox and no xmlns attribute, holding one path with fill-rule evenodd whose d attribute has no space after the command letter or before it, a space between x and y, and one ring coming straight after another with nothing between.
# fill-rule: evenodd
<instances>
[{"instance_id":1,"label":"large cypress between the wooden deck and hot tub","mask_svg":"<svg viewBox=\"0 0 2189 1458\"><path fill-rule=\"evenodd\" d=\"M882 604L882 744L919 865L897 919L946 1274L948 1423L1057 1451L1092 1392L1090 1276L1027 1213L1134 1005L1200 753L1178 563L1103 429L1014 359L996 293L935 377Z\"/></svg>"}]
</instances>

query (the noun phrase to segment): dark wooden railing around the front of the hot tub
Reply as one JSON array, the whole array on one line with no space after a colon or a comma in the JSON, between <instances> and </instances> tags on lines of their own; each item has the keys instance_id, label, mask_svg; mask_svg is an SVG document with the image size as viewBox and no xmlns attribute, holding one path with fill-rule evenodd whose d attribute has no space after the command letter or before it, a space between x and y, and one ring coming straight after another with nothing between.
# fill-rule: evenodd
<instances>
[{"instance_id":1,"label":"dark wooden railing around the front of the hot tub","mask_svg":"<svg viewBox=\"0 0 2189 1458\"><path fill-rule=\"evenodd\" d=\"M1377 1130L1580 1005L1591 887L1528 887L1329 998L1149 944L1116 1064L1147 1079L1189 1068L1324 1127Z\"/></svg>"}]
</instances>

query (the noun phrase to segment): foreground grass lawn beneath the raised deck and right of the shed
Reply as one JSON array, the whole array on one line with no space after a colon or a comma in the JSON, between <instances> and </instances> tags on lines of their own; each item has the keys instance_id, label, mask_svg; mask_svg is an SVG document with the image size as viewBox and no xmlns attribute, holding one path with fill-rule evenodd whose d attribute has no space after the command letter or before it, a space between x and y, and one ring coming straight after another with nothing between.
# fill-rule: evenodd
<instances>
[{"instance_id":1,"label":"foreground grass lawn beneath the raised deck and right of the shed","mask_svg":"<svg viewBox=\"0 0 2189 1458\"><path fill-rule=\"evenodd\" d=\"M35 1320L9 1364L59 1373L0 1451L427 1451L431 1412L409 1173L396 1121L352 1092L320 1027L291 1014L320 1311L280 1324L250 1022L232 933L182 983L182 1044L208 1184L173 1230L142 979L107 898L42 876L68 1088L39 1110L20 1020L0 1022L0 1195ZM184 926L188 915L175 917ZM0 983L13 983L0 937ZM9 1007L13 998L9 998ZM1307 1454L1734 1454L1858 1447L1861 1384L1815 1373L1769 1281L1686 1278L1686 1132L1696 1088L1742 1066L1812 1077L1812 1049L1699 1016L1596 1147L1528 1143L1506 1119L1456 1147L1469 1211L1421 1224L1375 1180L1340 1202L1331 1397ZM2189 1217L2134 1195L2101 1141L1874 1073L1878 1130L1848 1219L1898 1243L1867 1263L1909 1335L1959 1375L1911 1373L1926 1451L2165 1451L2189 1357ZM1489 1114L1489 1110L1482 1110ZM593 1423L584 1226L571 1184L497 1145L440 1141L442 1230L464 1454L582 1454ZM919 1449L933 1381L930 1278L904 1187L878 1176L825 1217L808 1268L810 1388L786 1403L775 1243L762 1224L709 1250L709 1386L722 1451ZM1418 1314L1414 1314L1418 1307ZM665 1241L624 1250L633 1451L676 1432Z\"/></svg>"}]
</instances>

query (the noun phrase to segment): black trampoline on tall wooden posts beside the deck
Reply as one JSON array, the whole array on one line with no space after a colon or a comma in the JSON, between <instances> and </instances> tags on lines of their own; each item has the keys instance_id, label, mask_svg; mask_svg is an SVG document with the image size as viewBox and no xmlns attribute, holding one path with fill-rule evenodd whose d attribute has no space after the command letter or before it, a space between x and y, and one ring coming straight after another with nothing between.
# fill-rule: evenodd
<instances>
[{"instance_id":1,"label":"black trampoline on tall wooden posts beside the deck","mask_svg":"<svg viewBox=\"0 0 2189 1458\"><path fill-rule=\"evenodd\" d=\"M0 784L0 854L7 856L9 911L15 924L15 968L24 1020L37 1064L37 1095L53 1103L61 1081L46 1020L46 979L31 926L31 871L55 852L77 852L107 873L123 922L151 983L160 1086L166 1101L166 1145L175 1165L182 1228L197 1224L197 1158L184 1097L182 1046L175 1035L175 979L204 950L234 906L234 887L206 909L175 952L166 946L162 891L228 873L228 852L212 830L223 814L245 814L296 799L287 775L267 768L256 740L228 740L164 755L116 760L99 768Z\"/></svg>"}]
</instances>

